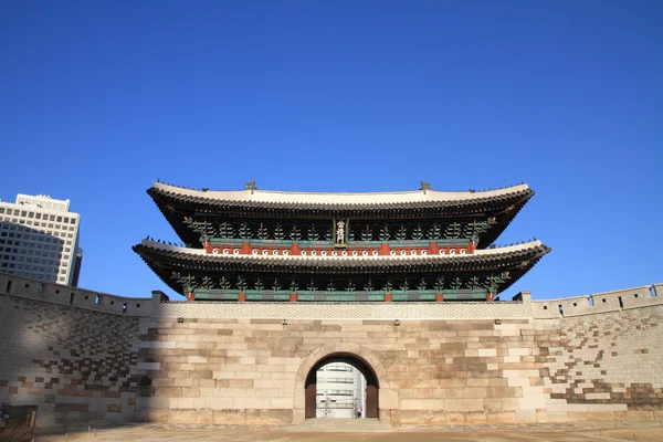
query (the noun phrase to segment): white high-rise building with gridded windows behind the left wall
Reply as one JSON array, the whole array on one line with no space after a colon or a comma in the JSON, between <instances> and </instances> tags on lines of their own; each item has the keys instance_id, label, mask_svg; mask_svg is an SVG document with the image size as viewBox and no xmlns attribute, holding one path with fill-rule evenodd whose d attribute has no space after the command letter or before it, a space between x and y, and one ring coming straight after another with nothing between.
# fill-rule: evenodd
<instances>
[{"instance_id":1,"label":"white high-rise building with gridded windows behind the left wall","mask_svg":"<svg viewBox=\"0 0 663 442\"><path fill-rule=\"evenodd\" d=\"M78 213L70 200L44 194L0 200L0 271L77 286L83 251L78 249Z\"/></svg>"}]
</instances>

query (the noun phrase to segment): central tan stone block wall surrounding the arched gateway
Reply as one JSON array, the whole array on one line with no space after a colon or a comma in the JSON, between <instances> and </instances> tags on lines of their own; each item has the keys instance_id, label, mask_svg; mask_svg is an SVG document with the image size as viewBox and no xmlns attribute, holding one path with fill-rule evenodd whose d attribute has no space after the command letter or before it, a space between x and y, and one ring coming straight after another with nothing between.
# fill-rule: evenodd
<instances>
[{"instance_id":1,"label":"central tan stone block wall surrounding the arched gateway","mask_svg":"<svg viewBox=\"0 0 663 442\"><path fill-rule=\"evenodd\" d=\"M154 396L137 408L144 419L170 422L222 423L229 414L299 422L308 370L325 356L351 354L378 376L381 419L516 422L534 404L512 375L541 385L534 335L524 328L528 319L162 318L140 345Z\"/></svg>"}]
</instances>

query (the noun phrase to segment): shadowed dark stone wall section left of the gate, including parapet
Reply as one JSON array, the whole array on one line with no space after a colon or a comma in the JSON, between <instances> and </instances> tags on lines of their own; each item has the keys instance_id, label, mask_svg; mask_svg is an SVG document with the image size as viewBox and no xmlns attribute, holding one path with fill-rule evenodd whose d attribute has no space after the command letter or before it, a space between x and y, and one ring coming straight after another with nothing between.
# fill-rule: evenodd
<instances>
[{"instance_id":1,"label":"shadowed dark stone wall section left of the gate, including parapet","mask_svg":"<svg viewBox=\"0 0 663 442\"><path fill-rule=\"evenodd\" d=\"M149 299L97 295L0 274L0 404L38 406L40 427L134 419L139 318L124 304Z\"/></svg>"}]
</instances>

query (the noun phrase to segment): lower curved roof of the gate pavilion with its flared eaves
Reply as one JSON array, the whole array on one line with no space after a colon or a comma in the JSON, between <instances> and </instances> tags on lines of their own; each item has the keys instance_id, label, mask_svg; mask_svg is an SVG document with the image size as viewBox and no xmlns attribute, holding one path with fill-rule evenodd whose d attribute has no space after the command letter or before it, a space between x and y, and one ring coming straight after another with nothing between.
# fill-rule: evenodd
<instances>
[{"instance_id":1,"label":"lower curved roof of the gate pavilion with its flared eaves","mask_svg":"<svg viewBox=\"0 0 663 442\"><path fill-rule=\"evenodd\" d=\"M173 272L288 273L288 274L375 274L410 272L504 272L512 277L499 287L506 290L550 251L540 241L476 250L466 255L383 255L383 256L302 256L302 255L215 255L201 249L180 248L151 240L134 251L173 291L181 293L170 276Z\"/></svg>"}]
</instances>

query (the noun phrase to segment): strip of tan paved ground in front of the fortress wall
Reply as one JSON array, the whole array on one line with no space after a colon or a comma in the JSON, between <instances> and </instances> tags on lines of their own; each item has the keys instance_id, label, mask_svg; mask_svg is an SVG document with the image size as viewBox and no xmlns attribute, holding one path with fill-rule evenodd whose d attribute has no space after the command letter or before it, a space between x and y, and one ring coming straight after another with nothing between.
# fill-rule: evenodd
<instances>
[{"instance_id":1,"label":"strip of tan paved ground in front of the fortress wall","mask_svg":"<svg viewBox=\"0 0 663 442\"><path fill-rule=\"evenodd\" d=\"M322 423L319 423L322 422ZM661 423L651 422L638 427L603 425L464 425L417 427L392 429L370 421L318 421L295 427L256 425L175 425L144 424L99 429L70 429L52 434L41 434L36 442L95 441L95 442L336 442L348 440L361 442L589 442L589 441L663 441Z\"/></svg>"}]
</instances>

